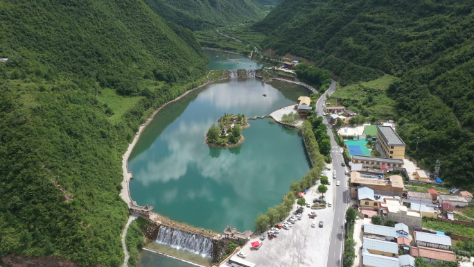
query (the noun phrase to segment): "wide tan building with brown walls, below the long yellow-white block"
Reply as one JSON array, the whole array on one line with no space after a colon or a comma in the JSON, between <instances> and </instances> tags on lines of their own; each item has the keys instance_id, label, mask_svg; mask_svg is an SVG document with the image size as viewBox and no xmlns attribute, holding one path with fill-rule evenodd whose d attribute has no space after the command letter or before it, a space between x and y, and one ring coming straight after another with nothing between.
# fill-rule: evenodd
<instances>
[{"instance_id":1,"label":"wide tan building with brown walls, below the long yellow-white block","mask_svg":"<svg viewBox=\"0 0 474 267\"><path fill-rule=\"evenodd\" d=\"M362 178L358 171L351 171L351 197L358 198L358 187L370 187L375 195L399 196L403 194L403 178L400 175L389 176L388 180Z\"/></svg>"}]
</instances>

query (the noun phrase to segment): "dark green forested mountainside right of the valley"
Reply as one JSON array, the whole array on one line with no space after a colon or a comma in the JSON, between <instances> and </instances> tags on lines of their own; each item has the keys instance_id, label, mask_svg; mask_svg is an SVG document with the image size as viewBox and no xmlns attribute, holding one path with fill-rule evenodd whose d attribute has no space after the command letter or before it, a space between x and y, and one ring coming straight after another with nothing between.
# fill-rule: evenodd
<instances>
[{"instance_id":1,"label":"dark green forested mountainside right of the valley","mask_svg":"<svg viewBox=\"0 0 474 267\"><path fill-rule=\"evenodd\" d=\"M340 76L342 85L385 74L409 155L441 178L473 188L473 1L285 0L256 29L264 48ZM420 137L416 150L416 137Z\"/></svg>"}]
</instances>

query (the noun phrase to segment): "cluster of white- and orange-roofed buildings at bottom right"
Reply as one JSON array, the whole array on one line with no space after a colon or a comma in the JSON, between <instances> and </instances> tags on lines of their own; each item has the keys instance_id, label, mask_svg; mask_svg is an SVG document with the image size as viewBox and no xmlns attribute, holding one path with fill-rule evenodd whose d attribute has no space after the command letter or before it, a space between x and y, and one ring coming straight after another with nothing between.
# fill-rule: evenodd
<instances>
[{"instance_id":1,"label":"cluster of white- and orange-roofed buildings at bottom right","mask_svg":"<svg viewBox=\"0 0 474 267\"><path fill-rule=\"evenodd\" d=\"M362 264L366 267L415 267L414 259L430 263L456 261L449 236L414 231L404 223L395 227L365 224L362 239Z\"/></svg>"}]
</instances>

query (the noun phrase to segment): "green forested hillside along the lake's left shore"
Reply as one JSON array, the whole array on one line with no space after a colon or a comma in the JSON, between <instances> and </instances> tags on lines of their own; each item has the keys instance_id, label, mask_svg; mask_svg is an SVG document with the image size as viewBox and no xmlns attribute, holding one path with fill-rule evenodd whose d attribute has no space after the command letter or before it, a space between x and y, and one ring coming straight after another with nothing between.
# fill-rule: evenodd
<instances>
[{"instance_id":1,"label":"green forested hillside along the lake's left shore","mask_svg":"<svg viewBox=\"0 0 474 267\"><path fill-rule=\"evenodd\" d=\"M121 154L204 53L141 0L0 1L0 33L0 257L120 266Z\"/></svg>"}]
</instances>

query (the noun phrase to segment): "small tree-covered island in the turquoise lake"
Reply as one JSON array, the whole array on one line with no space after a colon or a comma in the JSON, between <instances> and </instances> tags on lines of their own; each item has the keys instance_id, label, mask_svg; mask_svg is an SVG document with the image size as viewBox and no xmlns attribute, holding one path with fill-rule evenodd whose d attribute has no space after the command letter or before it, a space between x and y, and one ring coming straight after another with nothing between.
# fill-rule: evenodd
<instances>
[{"instance_id":1,"label":"small tree-covered island in the turquoise lake","mask_svg":"<svg viewBox=\"0 0 474 267\"><path fill-rule=\"evenodd\" d=\"M206 144L219 148L232 148L242 144L244 138L240 132L249 127L243 114L224 114L217 124L218 126L212 124L207 131Z\"/></svg>"}]
</instances>

